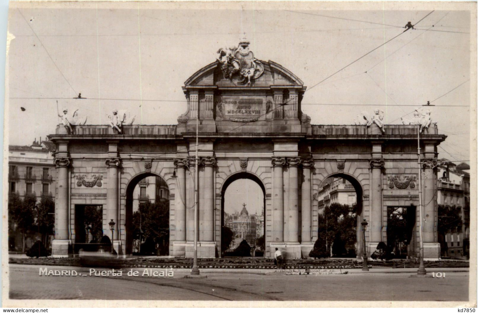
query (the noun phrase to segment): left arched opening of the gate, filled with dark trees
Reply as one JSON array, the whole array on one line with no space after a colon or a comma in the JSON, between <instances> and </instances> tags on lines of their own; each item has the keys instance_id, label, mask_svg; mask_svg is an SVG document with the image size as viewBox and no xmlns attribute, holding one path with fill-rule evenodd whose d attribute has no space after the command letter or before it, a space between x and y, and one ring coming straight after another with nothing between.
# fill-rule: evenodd
<instances>
[{"instance_id":1,"label":"left arched opening of the gate, filled with dark trees","mask_svg":"<svg viewBox=\"0 0 478 313\"><path fill-rule=\"evenodd\" d=\"M141 173L126 187L126 254L169 255L169 188L155 173ZM144 216L143 216L144 215Z\"/></svg>"}]
</instances>

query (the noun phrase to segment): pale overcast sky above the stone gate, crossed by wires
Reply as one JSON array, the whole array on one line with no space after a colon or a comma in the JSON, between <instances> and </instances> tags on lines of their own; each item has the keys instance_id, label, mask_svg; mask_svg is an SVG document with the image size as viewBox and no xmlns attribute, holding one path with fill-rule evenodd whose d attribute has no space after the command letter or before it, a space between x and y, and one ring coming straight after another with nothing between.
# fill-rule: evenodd
<instances>
[{"instance_id":1,"label":"pale overcast sky above the stone gate, crossed by wires","mask_svg":"<svg viewBox=\"0 0 478 313\"><path fill-rule=\"evenodd\" d=\"M431 101L432 119L448 136L439 157L470 159L469 11L441 2L200 5L11 2L10 144L54 133L63 108L78 108L87 124L106 124L113 108L136 115L135 123L176 124L186 111L185 80L245 36L256 58L304 82L302 110L312 124L353 124L375 108L397 124ZM408 21L416 29L403 32ZM78 93L87 99L73 99Z\"/></svg>"}]
</instances>

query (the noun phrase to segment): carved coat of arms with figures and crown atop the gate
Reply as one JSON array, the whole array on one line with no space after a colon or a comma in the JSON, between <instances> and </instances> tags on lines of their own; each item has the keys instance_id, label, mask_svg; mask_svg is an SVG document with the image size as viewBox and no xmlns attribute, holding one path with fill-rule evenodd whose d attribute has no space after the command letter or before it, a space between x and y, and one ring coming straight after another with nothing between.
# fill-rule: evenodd
<instances>
[{"instance_id":1,"label":"carved coat of arms with figures and crown atop the gate","mask_svg":"<svg viewBox=\"0 0 478 313\"><path fill-rule=\"evenodd\" d=\"M232 81L233 76L238 73L241 77L239 85L250 85L253 79L264 73L264 65L254 58L254 54L249 50L249 42L246 40L242 40L238 48L220 48L217 53L219 54L217 60L221 63L224 77Z\"/></svg>"}]
</instances>

